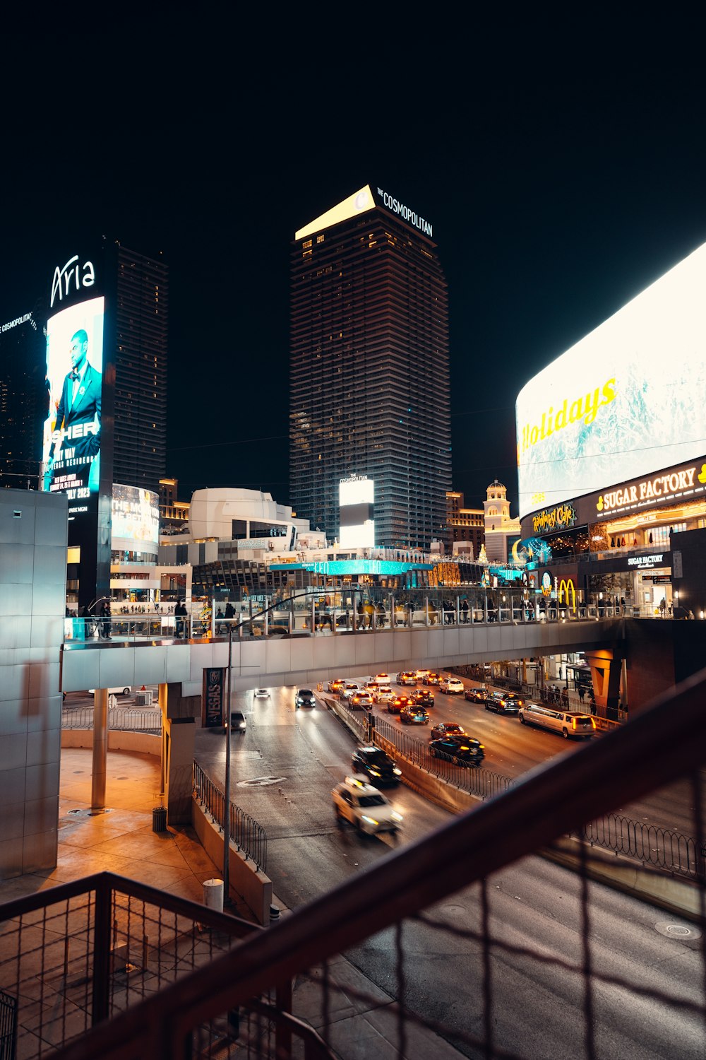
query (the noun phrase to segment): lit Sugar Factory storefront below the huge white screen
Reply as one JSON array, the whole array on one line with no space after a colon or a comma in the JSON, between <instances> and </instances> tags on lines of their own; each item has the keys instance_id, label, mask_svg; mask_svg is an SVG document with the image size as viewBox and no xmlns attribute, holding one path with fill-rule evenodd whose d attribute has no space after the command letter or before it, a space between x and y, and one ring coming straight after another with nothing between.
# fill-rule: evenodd
<instances>
[{"instance_id":1,"label":"lit Sugar Factory storefront below the huge white screen","mask_svg":"<svg viewBox=\"0 0 706 1060\"><path fill-rule=\"evenodd\" d=\"M550 549L536 549L530 584L572 611L575 598L577 610L617 602L629 617L669 616L678 603L670 534L706 526L705 490L706 458L526 516L523 541Z\"/></svg>"}]
</instances>

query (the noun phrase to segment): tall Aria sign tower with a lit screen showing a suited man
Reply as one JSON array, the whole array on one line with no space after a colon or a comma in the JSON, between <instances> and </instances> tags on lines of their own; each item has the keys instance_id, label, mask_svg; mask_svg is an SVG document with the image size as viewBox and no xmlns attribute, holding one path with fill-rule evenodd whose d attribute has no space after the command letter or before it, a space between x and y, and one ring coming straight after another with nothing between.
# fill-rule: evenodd
<instances>
[{"instance_id":1,"label":"tall Aria sign tower with a lit screen showing a suited man","mask_svg":"<svg viewBox=\"0 0 706 1060\"><path fill-rule=\"evenodd\" d=\"M69 545L80 549L78 603L107 595L112 488L112 387L106 351L104 255L71 255L56 265L47 320L41 487L69 499ZM106 444L107 441L107 444Z\"/></svg>"}]
</instances>

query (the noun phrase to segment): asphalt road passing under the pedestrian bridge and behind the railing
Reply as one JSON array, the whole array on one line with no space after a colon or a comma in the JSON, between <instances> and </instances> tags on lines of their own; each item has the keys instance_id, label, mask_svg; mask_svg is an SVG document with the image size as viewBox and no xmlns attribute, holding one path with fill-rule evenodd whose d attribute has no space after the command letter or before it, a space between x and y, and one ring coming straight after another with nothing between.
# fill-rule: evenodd
<instances>
[{"instance_id":1,"label":"asphalt road passing under the pedestrian bridge and behind the railing","mask_svg":"<svg viewBox=\"0 0 706 1060\"><path fill-rule=\"evenodd\" d=\"M366 838L347 825L338 826L330 791L349 768L354 741L330 712L322 707L295 710L293 700L291 688L272 689L269 700L238 696L234 706L243 710L248 730L233 738L232 793L266 828L268 874L291 908L360 874L385 856L391 845L428 835L449 819L443 810L400 787L392 796L404 815L397 841ZM547 755L575 750L573 743L527 730L515 719L446 700L437 696L434 716L463 724L472 719L472 729L488 750L488 767L497 772L512 768L517 772L508 775L519 775ZM197 758L214 779L222 778L224 743L220 734L197 732ZM546 1060L585 1055L580 879L529 858L493 876L487 887L492 935L488 1019L495 1046ZM701 1060L706 1055L703 1022L670 1003L686 999L704 1004L698 930L599 884L587 887L595 1056ZM443 1024L443 1036L474 1058L483 1050L456 1036L482 1036L486 1019L479 895L479 884L466 888L428 911L423 922L406 921L403 930L406 1006ZM690 934L667 937L665 923ZM390 931L347 956L373 984L397 996L395 952ZM628 986L619 985L623 980Z\"/></svg>"}]
</instances>

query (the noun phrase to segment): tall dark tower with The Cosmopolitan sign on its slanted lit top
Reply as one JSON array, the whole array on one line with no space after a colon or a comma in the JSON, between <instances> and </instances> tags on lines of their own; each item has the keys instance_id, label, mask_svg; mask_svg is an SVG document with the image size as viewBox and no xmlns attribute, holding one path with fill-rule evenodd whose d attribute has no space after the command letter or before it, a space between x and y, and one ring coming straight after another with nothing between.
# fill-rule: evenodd
<instances>
[{"instance_id":1,"label":"tall dark tower with The Cosmopolitan sign on its slanted lit top","mask_svg":"<svg viewBox=\"0 0 706 1060\"><path fill-rule=\"evenodd\" d=\"M369 186L295 233L290 500L329 538L351 475L375 483L376 544L423 548L443 532L448 296L432 234Z\"/></svg>"}]
</instances>

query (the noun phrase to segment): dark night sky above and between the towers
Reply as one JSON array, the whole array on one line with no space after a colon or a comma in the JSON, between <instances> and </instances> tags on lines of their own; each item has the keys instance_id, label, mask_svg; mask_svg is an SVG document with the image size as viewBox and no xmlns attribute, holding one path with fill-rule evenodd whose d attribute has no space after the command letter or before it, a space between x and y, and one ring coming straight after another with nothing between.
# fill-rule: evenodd
<instances>
[{"instance_id":1,"label":"dark night sky above and between the towers","mask_svg":"<svg viewBox=\"0 0 706 1060\"><path fill-rule=\"evenodd\" d=\"M517 514L518 391L706 242L699 26L543 18L6 40L2 319L79 240L164 251L167 474L287 502L290 243L380 186L449 284L454 489Z\"/></svg>"}]
</instances>

